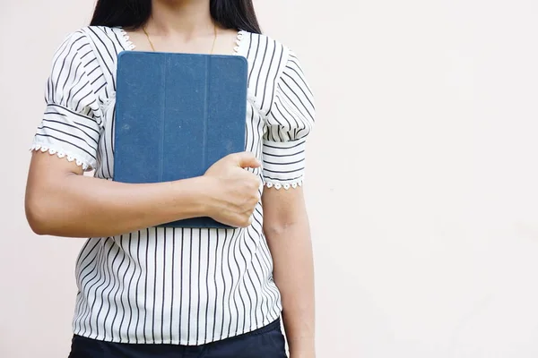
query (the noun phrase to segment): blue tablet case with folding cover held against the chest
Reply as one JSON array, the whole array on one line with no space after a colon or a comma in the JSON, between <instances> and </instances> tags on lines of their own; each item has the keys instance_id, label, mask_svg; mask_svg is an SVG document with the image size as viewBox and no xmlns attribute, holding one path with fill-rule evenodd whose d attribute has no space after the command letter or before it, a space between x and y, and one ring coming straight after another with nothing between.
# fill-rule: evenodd
<instances>
[{"instance_id":1,"label":"blue tablet case with folding cover held against the chest","mask_svg":"<svg viewBox=\"0 0 538 358\"><path fill-rule=\"evenodd\" d=\"M247 59L125 51L118 55L114 180L159 183L204 175L245 150ZM163 226L230 227L210 217Z\"/></svg>"}]
</instances>

